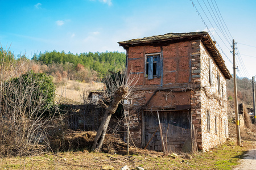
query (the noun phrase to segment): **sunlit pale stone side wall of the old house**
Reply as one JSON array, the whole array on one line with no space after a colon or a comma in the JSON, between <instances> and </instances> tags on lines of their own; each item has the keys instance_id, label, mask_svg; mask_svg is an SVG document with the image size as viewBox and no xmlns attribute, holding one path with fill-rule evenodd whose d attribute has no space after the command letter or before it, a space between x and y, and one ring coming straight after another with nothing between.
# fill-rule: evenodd
<instances>
[{"instance_id":1,"label":"sunlit pale stone side wall of the old house","mask_svg":"<svg viewBox=\"0 0 256 170\"><path fill-rule=\"evenodd\" d=\"M228 115L226 101L226 80L213 58L201 43L201 134L203 150L223 143L228 138ZM212 84L210 84L209 62L212 65ZM220 91L218 90L218 75ZM210 130L208 131L207 112L210 113Z\"/></svg>"}]
</instances>

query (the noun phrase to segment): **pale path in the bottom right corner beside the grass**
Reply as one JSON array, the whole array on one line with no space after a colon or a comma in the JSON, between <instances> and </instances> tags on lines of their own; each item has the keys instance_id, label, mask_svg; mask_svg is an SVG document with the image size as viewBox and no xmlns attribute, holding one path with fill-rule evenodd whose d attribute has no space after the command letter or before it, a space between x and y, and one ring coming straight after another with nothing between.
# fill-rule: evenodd
<instances>
[{"instance_id":1,"label":"pale path in the bottom right corner beside the grass","mask_svg":"<svg viewBox=\"0 0 256 170\"><path fill-rule=\"evenodd\" d=\"M241 162L239 167L236 167L233 170L256 170L256 149L247 152L245 158L243 158Z\"/></svg>"}]
</instances>

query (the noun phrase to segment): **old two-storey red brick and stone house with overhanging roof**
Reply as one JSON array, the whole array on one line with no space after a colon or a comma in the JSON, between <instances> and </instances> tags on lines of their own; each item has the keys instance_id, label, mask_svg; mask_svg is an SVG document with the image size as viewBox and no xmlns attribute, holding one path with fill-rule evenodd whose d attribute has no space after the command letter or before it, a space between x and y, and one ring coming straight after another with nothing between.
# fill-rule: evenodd
<instances>
[{"instance_id":1,"label":"old two-storey red brick and stone house with overhanging roof","mask_svg":"<svg viewBox=\"0 0 256 170\"><path fill-rule=\"evenodd\" d=\"M126 49L128 73L139 75L137 95L127 105L135 145L160 151L164 141L168 150L180 150L193 133L204 151L226 141L226 79L232 75L208 32L118 43Z\"/></svg>"}]
</instances>

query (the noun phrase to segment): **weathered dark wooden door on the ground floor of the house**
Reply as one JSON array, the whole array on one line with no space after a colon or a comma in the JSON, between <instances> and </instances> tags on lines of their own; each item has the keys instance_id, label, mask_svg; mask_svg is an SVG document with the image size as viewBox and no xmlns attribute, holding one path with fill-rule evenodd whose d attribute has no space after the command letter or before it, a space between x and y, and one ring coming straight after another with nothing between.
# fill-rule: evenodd
<instances>
[{"instance_id":1,"label":"weathered dark wooden door on the ground floor of the house","mask_svg":"<svg viewBox=\"0 0 256 170\"><path fill-rule=\"evenodd\" d=\"M163 131L164 146L168 152L181 150L190 135L190 112L159 111L160 126ZM162 151L159 120L156 111L144 111L142 117L142 145L148 150Z\"/></svg>"}]
</instances>

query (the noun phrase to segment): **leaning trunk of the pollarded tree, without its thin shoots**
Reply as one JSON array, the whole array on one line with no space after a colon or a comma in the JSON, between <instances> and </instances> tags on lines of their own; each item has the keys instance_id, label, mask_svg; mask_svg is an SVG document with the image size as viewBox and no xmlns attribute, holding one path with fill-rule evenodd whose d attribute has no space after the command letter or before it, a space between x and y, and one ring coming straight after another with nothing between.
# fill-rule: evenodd
<instances>
[{"instance_id":1,"label":"leaning trunk of the pollarded tree, without its thin shoots","mask_svg":"<svg viewBox=\"0 0 256 170\"><path fill-rule=\"evenodd\" d=\"M109 107L106 108L100 128L98 129L96 137L94 139L92 151L100 152L100 149L105 139L106 130L108 129L108 126L109 126L110 118L112 114L114 114L115 111L117 110L117 107L120 101L124 99L127 94L128 94L128 88L125 86L118 87L117 90L114 92L113 100L109 105Z\"/></svg>"}]
</instances>

